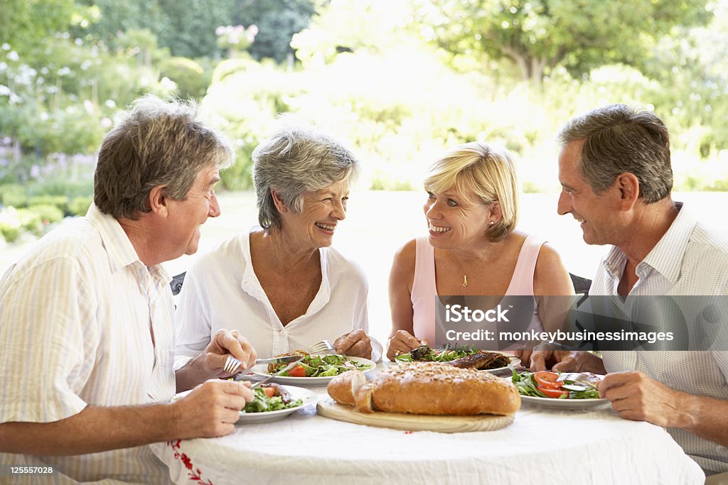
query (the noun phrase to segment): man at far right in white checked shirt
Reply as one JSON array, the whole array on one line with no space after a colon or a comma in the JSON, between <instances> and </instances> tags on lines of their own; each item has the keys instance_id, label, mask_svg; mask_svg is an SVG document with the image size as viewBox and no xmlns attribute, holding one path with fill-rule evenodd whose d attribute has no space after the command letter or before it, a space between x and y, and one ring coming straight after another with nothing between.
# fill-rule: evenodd
<instances>
[{"instance_id":1,"label":"man at far right in white checked shirt","mask_svg":"<svg viewBox=\"0 0 728 485\"><path fill-rule=\"evenodd\" d=\"M598 108L559 140L558 213L581 224L587 244L613 245L590 295L728 294L728 241L670 198L668 129L654 113ZM531 369L609 372L599 392L622 417L668 428L707 474L728 470L725 348L603 355L536 352Z\"/></svg>"}]
</instances>

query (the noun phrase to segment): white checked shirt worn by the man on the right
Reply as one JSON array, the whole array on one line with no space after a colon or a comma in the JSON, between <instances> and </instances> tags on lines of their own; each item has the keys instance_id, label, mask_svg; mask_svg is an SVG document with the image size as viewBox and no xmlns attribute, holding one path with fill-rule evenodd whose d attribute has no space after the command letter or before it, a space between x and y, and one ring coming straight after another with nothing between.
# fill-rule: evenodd
<instances>
[{"instance_id":1,"label":"white checked shirt worn by the man on the right","mask_svg":"<svg viewBox=\"0 0 728 485\"><path fill-rule=\"evenodd\" d=\"M630 296L728 294L728 239L710 231L689 207L680 211L662 239L637 265L639 280ZM613 247L601 263L591 295L617 296L627 256ZM665 311L668 311L665 309ZM655 315L654 318L669 318ZM640 371L668 387L698 396L728 399L728 352L705 351L605 351L607 372ZM728 471L728 448L685 430L668 428L705 473Z\"/></svg>"}]
</instances>

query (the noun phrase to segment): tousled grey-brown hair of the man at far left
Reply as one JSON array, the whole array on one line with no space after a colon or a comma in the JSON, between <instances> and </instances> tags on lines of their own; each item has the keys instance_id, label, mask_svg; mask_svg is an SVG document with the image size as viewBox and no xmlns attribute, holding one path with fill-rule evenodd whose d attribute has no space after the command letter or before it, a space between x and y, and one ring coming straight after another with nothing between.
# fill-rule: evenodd
<instances>
[{"instance_id":1,"label":"tousled grey-brown hair of the man at far left","mask_svg":"<svg viewBox=\"0 0 728 485\"><path fill-rule=\"evenodd\" d=\"M94 204L117 219L149 212L149 192L186 199L197 174L234 161L229 143L197 119L194 102L165 102L153 95L136 100L101 143L94 176Z\"/></svg>"}]
</instances>

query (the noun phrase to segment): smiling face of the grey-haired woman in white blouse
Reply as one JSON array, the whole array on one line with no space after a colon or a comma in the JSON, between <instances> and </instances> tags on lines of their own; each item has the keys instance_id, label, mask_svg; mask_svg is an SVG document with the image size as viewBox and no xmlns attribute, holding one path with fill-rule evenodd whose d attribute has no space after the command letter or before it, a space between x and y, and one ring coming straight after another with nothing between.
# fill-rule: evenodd
<instances>
[{"instance_id":1,"label":"smiling face of the grey-haired woman in white blouse","mask_svg":"<svg viewBox=\"0 0 728 485\"><path fill-rule=\"evenodd\" d=\"M311 249L331 246L337 225L347 217L348 200L347 180L306 192L300 214L290 210L282 212L282 231Z\"/></svg>"}]
</instances>

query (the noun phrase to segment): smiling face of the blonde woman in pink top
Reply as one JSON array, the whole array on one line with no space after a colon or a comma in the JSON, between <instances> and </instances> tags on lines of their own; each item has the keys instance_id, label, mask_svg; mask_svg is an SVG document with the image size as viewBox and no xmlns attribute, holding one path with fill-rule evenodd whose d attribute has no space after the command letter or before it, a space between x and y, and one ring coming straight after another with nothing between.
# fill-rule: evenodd
<instances>
[{"instance_id":1,"label":"smiling face of the blonde woman in pink top","mask_svg":"<svg viewBox=\"0 0 728 485\"><path fill-rule=\"evenodd\" d=\"M483 204L474 193L455 189L427 193L424 215L430 230L429 241L440 249L462 248L482 240L488 230L491 204Z\"/></svg>"}]
</instances>

